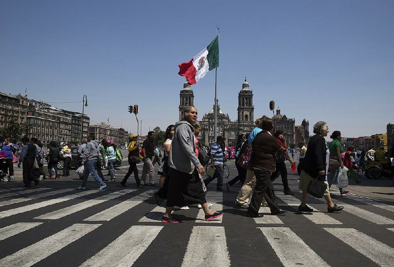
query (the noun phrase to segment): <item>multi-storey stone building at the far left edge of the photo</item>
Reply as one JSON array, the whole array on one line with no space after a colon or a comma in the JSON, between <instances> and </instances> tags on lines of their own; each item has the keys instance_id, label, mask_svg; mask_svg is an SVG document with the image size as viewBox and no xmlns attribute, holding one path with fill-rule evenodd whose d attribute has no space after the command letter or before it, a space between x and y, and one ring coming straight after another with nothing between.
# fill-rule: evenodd
<instances>
[{"instance_id":1,"label":"multi-storey stone building at the far left edge of the photo","mask_svg":"<svg viewBox=\"0 0 394 267\"><path fill-rule=\"evenodd\" d=\"M0 92L0 127L7 127L8 121L26 123L27 95Z\"/></svg>"}]
</instances>

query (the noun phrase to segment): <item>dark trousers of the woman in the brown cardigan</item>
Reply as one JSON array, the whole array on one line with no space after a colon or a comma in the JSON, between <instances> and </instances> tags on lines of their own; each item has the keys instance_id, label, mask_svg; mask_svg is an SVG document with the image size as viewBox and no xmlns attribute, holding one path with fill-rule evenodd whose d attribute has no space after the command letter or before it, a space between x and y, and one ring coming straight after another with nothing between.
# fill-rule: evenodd
<instances>
[{"instance_id":1,"label":"dark trousers of the woman in the brown cardigan","mask_svg":"<svg viewBox=\"0 0 394 267\"><path fill-rule=\"evenodd\" d=\"M256 176L256 186L255 191L253 192L252 200L250 201L248 214L259 214L259 209L263 198L267 202L271 212L278 211L279 207L275 203L274 186L270 180L271 173L265 171L254 171L254 173Z\"/></svg>"}]
</instances>

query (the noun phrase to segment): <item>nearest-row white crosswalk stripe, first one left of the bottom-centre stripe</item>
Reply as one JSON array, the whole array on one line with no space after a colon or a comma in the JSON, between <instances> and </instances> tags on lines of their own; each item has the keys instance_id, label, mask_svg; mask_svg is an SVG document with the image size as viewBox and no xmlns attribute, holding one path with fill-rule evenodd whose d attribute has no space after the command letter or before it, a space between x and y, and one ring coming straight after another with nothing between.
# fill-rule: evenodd
<instances>
[{"instance_id":1,"label":"nearest-row white crosswalk stripe, first one left of the bottom-centre stripe","mask_svg":"<svg viewBox=\"0 0 394 267\"><path fill-rule=\"evenodd\" d=\"M162 229L163 226L131 226L129 230L83 263L81 267L129 267L147 249Z\"/></svg>"}]
</instances>

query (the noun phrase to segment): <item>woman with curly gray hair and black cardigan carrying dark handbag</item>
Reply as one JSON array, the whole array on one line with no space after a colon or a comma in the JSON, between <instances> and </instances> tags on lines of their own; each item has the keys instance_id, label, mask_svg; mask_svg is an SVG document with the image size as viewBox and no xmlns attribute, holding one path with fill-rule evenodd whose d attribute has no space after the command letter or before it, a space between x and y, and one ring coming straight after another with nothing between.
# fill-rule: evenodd
<instances>
[{"instance_id":1,"label":"woman with curly gray hair and black cardigan carrying dark handbag","mask_svg":"<svg viewBox=\"0 0 394 267\"><path fill-rule=\"evenodd\" d=\"M302 190L301 205L298 211L311 212L313 208L306 205L306 198L308 197L308 184L314 179L323 179L327 185L324 198L327 202L327 211L335 212L342 210L343 207L333 204L329 195L329 186L327 182L329 150L325 140L328 134L328 125L324 121L318 121L313 126L314 136L309 140L308 147L305 152L304 161L302 162L301 177L299 178L298 189Z\"/></svg>"}]
</instances>

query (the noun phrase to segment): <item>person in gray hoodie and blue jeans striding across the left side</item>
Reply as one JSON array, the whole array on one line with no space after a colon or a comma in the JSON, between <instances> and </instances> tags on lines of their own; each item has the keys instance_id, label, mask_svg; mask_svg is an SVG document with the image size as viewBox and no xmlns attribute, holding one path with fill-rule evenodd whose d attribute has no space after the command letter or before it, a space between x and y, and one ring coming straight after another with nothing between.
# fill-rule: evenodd
<instances>
[{"instance_id":1,"label":"person in gray hoodie and blue jeans striding across the left side","mask_svg":"<svg viewBox=\"0 0 394 267\"><path fill-rule=\"evenodd\" d=\"M107 186L105 182L101 180L95 169L97 161L101 162L101 165L103 163L101 153L99 151L99 143L97 141L94 141L94 138L94 135L90 134L88 136L88 143L86 144L86 148L83 153L83 160L81 163L81 165L85 165L85 170L83 173L82 183L80 186L77 187L77 189L83 190L86 188L86 182L88 181L89 174L92 174L93 178L100 185L98 190L103 190Z\"/></svg>"}]
</instances>

